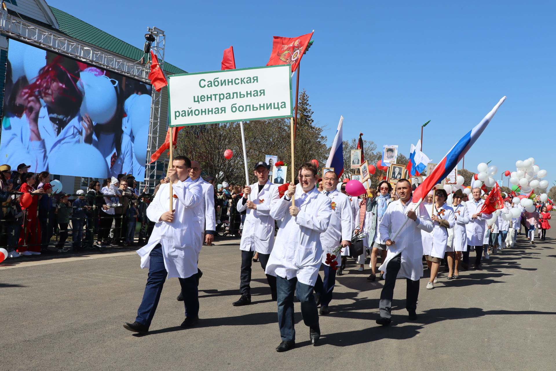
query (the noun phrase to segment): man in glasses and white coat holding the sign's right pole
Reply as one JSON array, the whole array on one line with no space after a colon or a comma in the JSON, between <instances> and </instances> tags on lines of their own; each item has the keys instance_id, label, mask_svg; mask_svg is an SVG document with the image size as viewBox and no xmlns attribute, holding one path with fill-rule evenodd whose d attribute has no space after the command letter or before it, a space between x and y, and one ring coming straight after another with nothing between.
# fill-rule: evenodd
<instances>
[{"instance_id":1,"label":"man in glasses and white coat holding the sign's right pole","mask_svg":"<svg viewBox=\"0 0 556 371\"><path fill-rule=\"evenodd\" d=\"M309 326L311 343L320 338L319 313L312 294L322 261L320 234L330 223L330 199L316 189L315 165L305 162L297 171L299 187L290 183L287 193L270 210L282 220L266 274L276 276L278 325L282 342L277 352L295 348L294 294L301 302L301 314ZM294 205L292 198L295 195Z\"/></svg>"}]
</instances>

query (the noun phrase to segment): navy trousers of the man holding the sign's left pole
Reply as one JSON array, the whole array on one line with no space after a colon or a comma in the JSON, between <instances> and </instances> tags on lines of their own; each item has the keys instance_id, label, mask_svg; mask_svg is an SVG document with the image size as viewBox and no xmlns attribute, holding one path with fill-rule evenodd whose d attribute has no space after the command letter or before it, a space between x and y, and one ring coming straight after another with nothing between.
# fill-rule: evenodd
<instances>
[{"instance_id":1,"label":"navy trousers of the man holding the sign's left pole","mask_svg":"<svg viewBox=\"0 0 556 371\"><path fill-rule=\"evenodd\" d=\"M158 244L152 249L150 254L150 264L148 269L147 285L143 300L137 309L138 323L150 327L153 316L155 316L158 300L162 293L162 286L166 281L168 272L164 266L162 256L162 245ZM195 318L199 315L199 294L197 291L197 275L193 274L188 278L178 278L180 280L181 291L183 293L183 305L185 306L185 316Z\"/></svg>"}]
</instances>

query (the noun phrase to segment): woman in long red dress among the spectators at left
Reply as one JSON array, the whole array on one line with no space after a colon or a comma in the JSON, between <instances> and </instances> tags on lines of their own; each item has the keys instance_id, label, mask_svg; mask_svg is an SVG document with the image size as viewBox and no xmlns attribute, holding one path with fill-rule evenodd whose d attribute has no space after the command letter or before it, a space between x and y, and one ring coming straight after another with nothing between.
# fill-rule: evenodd
<instances>
[{"instance_id":1,"label":"woman in long red dress among the spectators at left","mask_svg":"<svg viewBox=\"0 0 556 371\"><path fill-rule=\"evenodd\" d=\"M43 189L34 189L35 175L32 172L26 172L21 176L22 185L19 192L31 194L43 194ZM33 195L31 205L21 209L25 213L23 217L23 228L19 235L19 243L17 252L21 255L41 255L41 225L37 218L38 199L41 195Z\"/></svg>"}]
</instances>

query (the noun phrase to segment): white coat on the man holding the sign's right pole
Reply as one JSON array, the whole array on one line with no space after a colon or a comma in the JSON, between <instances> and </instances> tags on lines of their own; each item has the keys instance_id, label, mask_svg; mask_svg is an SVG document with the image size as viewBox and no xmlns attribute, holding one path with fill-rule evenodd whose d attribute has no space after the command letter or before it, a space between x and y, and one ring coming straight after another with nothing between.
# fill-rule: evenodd
<instances>
[{"instance_id":1,"label":"white coat on the man holding the sign's right pole","mask_svg":"<svg viewBox=\"0 0 556 371\"><path fill-rule=\"evenodd\" d=\"M306 285L315 286L322 261L320 234L326 231L331 216L330 199L316 187L305 193L295 192L296 217L289 212L291 200L282 197L270 210L270 216L282 220L274 249L266 265L266 274L286 279L297 277Z\"/></svg>"}]
</instances>

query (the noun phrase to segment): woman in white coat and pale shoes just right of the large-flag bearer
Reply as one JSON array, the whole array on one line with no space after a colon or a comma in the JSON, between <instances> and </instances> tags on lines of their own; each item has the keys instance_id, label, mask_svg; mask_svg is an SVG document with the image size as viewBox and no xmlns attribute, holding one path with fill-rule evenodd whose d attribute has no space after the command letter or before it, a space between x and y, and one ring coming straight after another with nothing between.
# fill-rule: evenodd
<instances>
[{"instance_id":1,"label":"woman in white coat and pale shoes just right of the large-flag bearer","mask_svg":"<svg viewBox=\"0 0 556 371\"><path fill-rule=\"evenodd\" d=\"M444 258L446 245L448 245L448 229L455 224L454 209L445 203L448 194L443 189L434 192L434 202L425 205L426 211L433 221L433 231L423 234L423 254L426 256L426 264L430 269L429 283L427 289L434 289L434 283L438 281L436 275L440 267L440 261Z\"/></svg>"}]
</instances>

